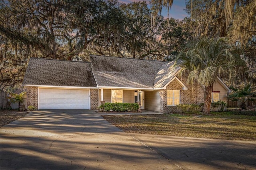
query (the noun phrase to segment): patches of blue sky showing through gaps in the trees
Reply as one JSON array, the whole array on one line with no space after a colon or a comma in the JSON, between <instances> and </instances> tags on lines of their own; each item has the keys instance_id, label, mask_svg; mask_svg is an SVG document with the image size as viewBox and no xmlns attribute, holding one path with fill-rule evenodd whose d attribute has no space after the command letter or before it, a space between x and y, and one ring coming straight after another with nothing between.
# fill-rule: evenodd
<instances>
[{"instance_id":1,"label":"patches of blue sky showing through gaps in the trees","mask_svg":"<svg viewBox=\"0 0 256 170\"><path fill-rule=\"evenodd\" d=\"M142 0L119 0L119 2L128 4L131 2L137 2L137 1L142 1ZM150 0L144 0L147 2L148 7L149 7L149 2ZM176 20L183 20L186 16L187 13L183 10L186 8L185 0L174 0L172 4L172 8L169 11L169 18L174 18ZM162 15L164 18L167 18L167 13L168 10L165 8L162 8Z\"/></svg>"}]
</instances>

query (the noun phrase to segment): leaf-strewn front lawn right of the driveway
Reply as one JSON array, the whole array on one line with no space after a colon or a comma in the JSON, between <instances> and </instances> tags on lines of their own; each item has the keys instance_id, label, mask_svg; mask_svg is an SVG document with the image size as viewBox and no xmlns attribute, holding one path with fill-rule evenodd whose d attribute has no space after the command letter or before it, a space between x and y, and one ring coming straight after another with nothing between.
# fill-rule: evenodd
<instances>
[{"instance_id":1,"label":"leaf-strewn front lawn right of the driveway","mask_svg":"<svg viewBox=\"0 0 256 170\"><path fill-rule=\"evenodd\" d=\"M256 117L212 112L198 118L191 114L104 115L126 133L256 141Z\"/></svg>"}]
</instances>

